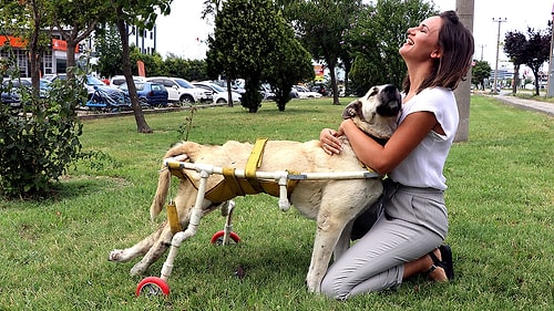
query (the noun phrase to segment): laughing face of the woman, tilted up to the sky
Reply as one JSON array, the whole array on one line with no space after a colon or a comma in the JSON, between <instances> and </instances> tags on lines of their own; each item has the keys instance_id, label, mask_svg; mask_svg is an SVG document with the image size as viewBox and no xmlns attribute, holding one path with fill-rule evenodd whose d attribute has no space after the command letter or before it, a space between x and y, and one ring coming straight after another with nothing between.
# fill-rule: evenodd
<instances>
[{"instance_id":1,"label":"laughing face of the woman, tilted up to the sky","mask_svg":"<svg viewBox=\"0 0 554 311\"><path fill-rule=\"evenodd\" d=\"M440 17L422 21L418 27L408 29L408 38L400 48L400 55L408 61L429 61L440 58L439 32L442 27Z\"/></svg>"}]
</instances>

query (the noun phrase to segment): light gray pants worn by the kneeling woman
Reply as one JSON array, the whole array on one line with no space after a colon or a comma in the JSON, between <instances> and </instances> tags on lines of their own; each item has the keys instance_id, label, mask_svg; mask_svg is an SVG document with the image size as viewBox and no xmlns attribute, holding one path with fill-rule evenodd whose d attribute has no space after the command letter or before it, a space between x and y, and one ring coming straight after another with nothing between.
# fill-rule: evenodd
<instances>
[{"instance_id":1,"label":"light gray pants worn by the kneeling woman","mask_svg":"<svg viewBox=\"0 0 554 311\"><path fill-rule=\"evenodd\" d=\"M442 190L387 182L384 186L381 215L329 267L321 282L325 294L347 299L399 287L403 265L432 251L447 237L448 214Z\"/></svg>"}]
</instances>

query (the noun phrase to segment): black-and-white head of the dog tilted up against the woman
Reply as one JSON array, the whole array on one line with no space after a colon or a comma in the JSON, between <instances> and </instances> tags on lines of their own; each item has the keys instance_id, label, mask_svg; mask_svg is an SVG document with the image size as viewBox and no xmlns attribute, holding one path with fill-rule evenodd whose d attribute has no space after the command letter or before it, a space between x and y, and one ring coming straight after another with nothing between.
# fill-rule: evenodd
<instances>
[{"instance_id":1,"label":"black-and-white head of the dog tilted up against the woman","mask_svg":"<svg viewBox=\"0 0 554 311\"><path fill-rule=\"evenodd\" d=\"M368 135L388 139L397 129L402 96L392 84L371 87L363 97L348 104L342 118L351 118Z\"/></svg>"}]
</instances>

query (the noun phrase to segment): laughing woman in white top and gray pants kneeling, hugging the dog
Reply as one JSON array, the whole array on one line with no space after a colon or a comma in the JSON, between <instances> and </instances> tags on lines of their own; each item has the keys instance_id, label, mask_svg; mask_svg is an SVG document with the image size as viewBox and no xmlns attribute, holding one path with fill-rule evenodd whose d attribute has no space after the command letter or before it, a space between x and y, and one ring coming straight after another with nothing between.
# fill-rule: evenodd
<instances>
[{"instance_id":1,"label":"laughing woman in white top and gray pants kneeling, hugging the dog","mask_svg":"<svg viewBox=\"0 0 554 311\"><path fill-rule=\"evenodd\" d=\"M431 279L453 279L452 252L441 243L448 231L442 174L458 128L453 90L470 69L473 37L453 11L424 20L408 30L399 52L408 68L399 126L381 146L350 120L337 131L320 134L324 151L340 153L340 135L358 158L382 175L382 212L370 228L328 270L321 291L337 299L396 288L402 280L427 272ZM366 230L367 230L366 228Z\"/></svg>"}]
</instances>

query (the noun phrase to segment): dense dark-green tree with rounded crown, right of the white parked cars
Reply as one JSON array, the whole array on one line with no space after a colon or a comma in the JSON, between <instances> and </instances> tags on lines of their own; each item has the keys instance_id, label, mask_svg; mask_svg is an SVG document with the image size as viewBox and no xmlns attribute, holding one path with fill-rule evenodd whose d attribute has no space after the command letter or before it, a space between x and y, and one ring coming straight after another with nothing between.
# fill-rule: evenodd
<instances>
[{"instance_id":1,"label":"dense dark-green tree with rounded crown, right of the white parked cars","mask_svg":"<svg viewBox=\"0 0 554 311\"><path fill-rule=\"evenodd\" d=\"M242 105L250 113L260 106L259 87L273 65L268 55L281 49L277 42L285 23L269 0L229 0L215 18L214 35L208 38L208 73L225 73L229 81L243 77Z\"/></svg>"}]
</instances>

